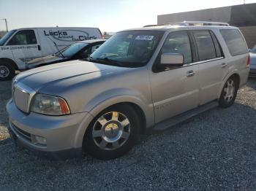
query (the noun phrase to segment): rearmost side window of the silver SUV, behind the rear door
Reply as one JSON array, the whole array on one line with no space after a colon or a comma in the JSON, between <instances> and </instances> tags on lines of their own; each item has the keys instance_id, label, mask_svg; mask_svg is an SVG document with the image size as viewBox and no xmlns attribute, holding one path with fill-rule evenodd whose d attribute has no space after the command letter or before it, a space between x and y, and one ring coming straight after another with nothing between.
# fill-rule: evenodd
<instances>
[{"instance_id":1,"label":"rearmost side window of the silver SUV, behind the rear door","mask_svg":"<svg viewBox=\"0 0 256 191\"><path fill-rule=\"evenodd\" d=\"M220 33L227 44L230 55L242 55L248 52L246 42L241 33L236 29L222 29Z\"/></svg>"}]
</instances>

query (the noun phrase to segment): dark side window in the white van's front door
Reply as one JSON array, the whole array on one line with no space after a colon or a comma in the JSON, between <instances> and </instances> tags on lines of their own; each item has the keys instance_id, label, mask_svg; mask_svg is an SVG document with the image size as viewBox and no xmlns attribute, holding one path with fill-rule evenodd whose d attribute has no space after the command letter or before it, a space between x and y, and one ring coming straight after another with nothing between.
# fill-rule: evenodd
<instances>
[{"instance_id":1,"label":"dark side window in the white van's front door","mask_svg":"<svg viewBox=\"0 0 256 191\"><path fill-rule=\"evenodd\" d=\"M34 30L22 30L18 31L15 36L10 39L7 45L26 45L37 44L37 38L34 34Z\"/></svg>"}]
</instances>

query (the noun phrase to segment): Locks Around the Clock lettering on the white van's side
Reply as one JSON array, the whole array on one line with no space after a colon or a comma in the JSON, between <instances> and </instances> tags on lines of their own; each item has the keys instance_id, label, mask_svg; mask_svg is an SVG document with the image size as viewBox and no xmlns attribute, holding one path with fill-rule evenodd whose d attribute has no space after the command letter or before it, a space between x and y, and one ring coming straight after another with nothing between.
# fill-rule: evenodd
<instances>
[{"instance_id":1,"label":"Locks Around the Clock lettering on the white van's side","mask_svg":"<svg viewBox=\"0 0 256 191\"><path fill-rule=\"evenodd\" d=\"M79 30L58 30L58 31L44 31L45 36L52 36L53 39L65 42L76 42L89 39L97 39L96 36L90 36L86 31Z\"/></svg>"}]
</instances>

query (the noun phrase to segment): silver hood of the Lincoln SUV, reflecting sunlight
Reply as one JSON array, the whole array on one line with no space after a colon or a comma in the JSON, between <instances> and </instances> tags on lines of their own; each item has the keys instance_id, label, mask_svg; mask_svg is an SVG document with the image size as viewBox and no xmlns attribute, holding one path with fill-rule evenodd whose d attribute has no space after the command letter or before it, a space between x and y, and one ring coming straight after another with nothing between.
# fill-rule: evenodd
<instances>
[{"instance_id":1,"label":"silver hood of the Lincoln SUV, reflecting sunlight","mask_svg":"<svg viewBox=\"0 0 256 191\"><path fill-rule=\"evenodd\" d=\"M67 61L24 71L18 74L15 80L36 91L42 87L49 87L50 85L56 87L60 84L63 85L63 87L59 87L61 89L127 69L88 61Z\"/></svg>"}]
</instances>

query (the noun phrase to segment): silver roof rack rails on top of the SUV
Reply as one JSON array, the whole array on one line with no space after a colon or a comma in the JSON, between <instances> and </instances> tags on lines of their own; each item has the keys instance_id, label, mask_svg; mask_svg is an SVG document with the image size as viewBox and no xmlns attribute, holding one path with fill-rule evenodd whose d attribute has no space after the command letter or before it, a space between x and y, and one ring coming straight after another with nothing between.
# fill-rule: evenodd
<instances>
[{"instance_id":1,"label":"silver roof rack rails on top of the SUV","mask_svg":"<svg viewBox=\"0 0 256 191\"><path fill-rule=\"evenodd\" d=\"M161 25L147 25L143 27L151 26L230 26L228 23L221 22L210 22L210 21L183 21L183 22L172 22Z\"/></svg>"}]
</instances>

